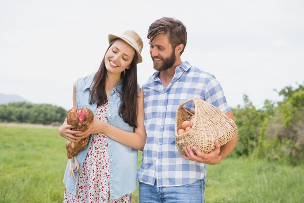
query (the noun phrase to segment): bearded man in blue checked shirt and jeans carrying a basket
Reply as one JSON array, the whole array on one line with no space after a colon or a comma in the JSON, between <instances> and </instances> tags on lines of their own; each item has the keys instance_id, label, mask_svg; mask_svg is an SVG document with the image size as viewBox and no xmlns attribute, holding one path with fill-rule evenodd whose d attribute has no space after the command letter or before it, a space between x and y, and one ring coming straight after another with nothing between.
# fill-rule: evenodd
<instances>
[{"instance_id":1,"label":"bearded man in blue checked shirt and jeans carrying a basket","mask_svg":"<svg viewBox=\"0 0 304 203\"><path fill-rule=\"evenodd\" d=\"M236 146L237 135L224 146L216 142L208 154L186 147L182 157L175 147L175 113L187 99L202 98L233 119L216 78L181 60L186 36L186 26L174 18L160 18L148 30L156 72L142 87L147 141L138 172L140 203L203 203L206 164L218 164Z\"/></svg>"}]
</instances>

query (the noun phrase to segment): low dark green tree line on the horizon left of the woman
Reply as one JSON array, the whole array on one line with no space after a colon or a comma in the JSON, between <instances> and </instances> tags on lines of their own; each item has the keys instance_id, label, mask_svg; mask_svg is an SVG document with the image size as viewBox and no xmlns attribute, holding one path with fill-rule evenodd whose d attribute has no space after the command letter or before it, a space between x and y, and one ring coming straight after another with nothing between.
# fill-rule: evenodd
<instances>
[{"instance_id":1,"label":"low dark green tree line on the horizon left of the woman","mask_svg":"<svg viewBox=\"0 0 304 203\"><path fill-rule=\"evenodd\" d=\"M14 102L0 105L0 122L49 125L62 123L66 116L64 108L51 104Z\"/></svg>"}]
</instances>

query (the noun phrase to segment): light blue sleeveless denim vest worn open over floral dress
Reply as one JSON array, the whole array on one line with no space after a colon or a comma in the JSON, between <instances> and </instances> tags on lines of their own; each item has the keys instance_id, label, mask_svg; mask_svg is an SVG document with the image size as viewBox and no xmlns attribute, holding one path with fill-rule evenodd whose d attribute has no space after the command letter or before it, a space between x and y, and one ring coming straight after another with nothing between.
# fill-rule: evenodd
<instances>
[{"instance_id":1,"label":"light blue sleeveless denim vest worn open over floral dress","mask_svg":"<svg viewBox=\"0 0 304 203\"><path fill-rule=\"evenodd\" d=\"M89 104L91 84L94 75L79 78L76 82L76 106L77 108L86 107L93 111L95 115L96 104ZM108 107L108 124L117 128L134 131L134 128L125 123L118 115L120 105L120 97L118 90L121 85L118 85L110 92L109 107ZM127 92L126 92L127 93ZM110 198L118 199L125 194L132 193L137 187L137 150L127 147L121 143L107 137L108 151L109 151L109 172L110 172ZM92 144L92 134L90 135L89 143L86 148L77 154L77 160L80 168L83 166L84 159L87 155L89 146ZM72 159L73 165L74 160ZM68 177L70 164L66 167L63 183L67 190L76 194L77 181L71 175ZM75 173L76 180L78 180L78 172Z\"/></svg>"}]
</instances>

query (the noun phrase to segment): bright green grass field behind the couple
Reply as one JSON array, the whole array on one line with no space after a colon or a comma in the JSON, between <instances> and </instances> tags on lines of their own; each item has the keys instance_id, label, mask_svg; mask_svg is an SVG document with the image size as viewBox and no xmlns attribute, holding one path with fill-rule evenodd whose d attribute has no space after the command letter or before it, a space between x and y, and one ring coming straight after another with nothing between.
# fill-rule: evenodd
<instances>
[{"instance_id":1,"label":"bright green grass field behind the couple","mask_svg":"<svg viewBox=\"0 0 304 203\"><path fill-rule=\"evenodd\" d=\"M58 128L0 124L0 203L62 202L65 143ZM207 166L205 201L303 203L304 167L227 158Z\"/></svg>"}]
</instances>

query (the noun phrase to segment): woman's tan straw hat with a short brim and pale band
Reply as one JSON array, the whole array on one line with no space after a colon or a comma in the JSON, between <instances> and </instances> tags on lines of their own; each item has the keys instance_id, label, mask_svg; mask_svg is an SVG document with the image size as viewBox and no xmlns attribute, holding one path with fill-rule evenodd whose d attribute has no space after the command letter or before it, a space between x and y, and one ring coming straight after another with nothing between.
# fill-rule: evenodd
<instances>
[{"instance_id":1,"label":"woman's tan straw hat with a short brim and pale band","mask_svg":"<svg viewBox=\"0 0 304 203\"><path fill-rule=\"evenodd\" d=\"M122 33L120 36L116 35L108 35L109 43L111 43L114 39L120 38L130 44L131 47L133 47L137 53L137 61L136 63L142 62L142 57L140 55L142 51L142 47L144 46L141 38L134 30L127 30L124 33Z\"/></svg>"}]
</instances>

